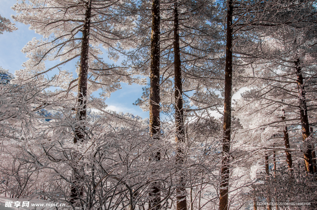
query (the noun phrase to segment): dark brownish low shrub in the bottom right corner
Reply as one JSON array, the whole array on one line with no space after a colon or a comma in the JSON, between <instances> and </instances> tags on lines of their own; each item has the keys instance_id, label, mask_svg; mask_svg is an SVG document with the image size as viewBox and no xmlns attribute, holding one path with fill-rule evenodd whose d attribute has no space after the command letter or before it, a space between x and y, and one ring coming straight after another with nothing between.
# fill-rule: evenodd
<instances>
[{"instance_id":1,"label":"dark brownish low shrub in the bottom right corner","mask_svg":"<svg viewBox=\"0 0 317 210\"><path fill-rule=\"evenodd\" d=\"M295 210L300 206L307 210L316 209L316 176L303 174L300 170L289 173L286 167L279 167L275 174L267 176L262 173L260 176L252 185L252 193L245 195L250 200L263 202L269 196L274 201L287 201L278 204L280 209ZM288 202L292 205L287 204Z\"/></svg>"}]
</instances>

